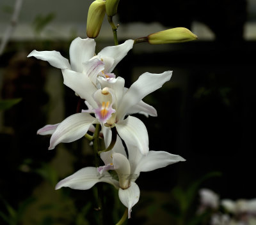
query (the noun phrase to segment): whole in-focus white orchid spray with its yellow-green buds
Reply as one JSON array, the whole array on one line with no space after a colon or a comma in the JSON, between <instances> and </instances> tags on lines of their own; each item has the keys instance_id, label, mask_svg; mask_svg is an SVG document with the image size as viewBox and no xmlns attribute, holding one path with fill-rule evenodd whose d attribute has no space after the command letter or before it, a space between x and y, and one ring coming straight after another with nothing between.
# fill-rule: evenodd
<instances>
[{"instance_id":1,"label":"whole in-focus white orchid spray with its yellow-green buds","mask_svg":"<svg viewBox=\"0 0 256 225\"><path fill-rule=\"evenodd\" d=\"M118 3L116 0L96 0L92 3L87 20L88 38L76 38L72 41L69 48L70 61L56 51L33 50L28 57L36 57L61 69L64 84L83 99L88 107L70 115L60 124L42 127L38 134L51 134L49 149L54 149L59 143L75 142L86 136L93 142L93 148L104 163L102 166L82 168L61 180L56 189L70 187L86 190L98 182L112 184L118 189L120 201L127 207L130 218L131 209L140 198L140 189L135 183L140 172L163 168L185 159L168 152L149 150L145 124L131 115L143 113L146 116L157 116L156 109L142 99L168 82L172 71L160 74L143 73L131 87L126 88L125 79L116 76L113 69L134 43L175 43L195 40L197 37L188 29L178 27L135 41L127 40L118 45L116 27L112 21ZM94 38L99 34L105 12L113 29L115 46L105 47L95 54ZM104 139L104 150L97 144L99 137ZM111 176L109 170L116 172L118 180Z\"/></svg>"}]
</instances>

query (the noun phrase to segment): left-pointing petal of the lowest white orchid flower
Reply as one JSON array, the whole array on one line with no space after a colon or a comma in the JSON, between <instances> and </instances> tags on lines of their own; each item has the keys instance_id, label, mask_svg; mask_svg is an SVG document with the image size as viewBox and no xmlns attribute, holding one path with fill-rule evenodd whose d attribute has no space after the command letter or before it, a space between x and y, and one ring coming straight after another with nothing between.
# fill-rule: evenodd
<instances>
[{"instance_id":1,"label":"left-pointing petal of the lowest white orchid flower","mask_svg":"<svg viewBox=\"0 0 256 225\"><path fill-rule=\"evenodd\" d=\"M108 172L105 171L100 175L97 168L86 167L58 182L55 189L70 187L72 189L87 190L98 182L106 182L118 188L118 182Z\"/></svg>"}]
</instances>

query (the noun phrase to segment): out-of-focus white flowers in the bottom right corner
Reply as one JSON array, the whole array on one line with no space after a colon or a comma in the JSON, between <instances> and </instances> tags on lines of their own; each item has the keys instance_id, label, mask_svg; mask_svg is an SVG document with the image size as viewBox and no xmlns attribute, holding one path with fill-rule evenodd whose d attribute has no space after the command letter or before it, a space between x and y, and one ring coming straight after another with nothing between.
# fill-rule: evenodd
<instances>
[{"instance_id":1,"label":"out-of-focus white flowers in the bottom right corner","mask_svg":"<svg viewBox=\"0 0 256 225\"><path fill-rule=\"evenodd\" d=\"M256 225L256 198L252 200L220 200L210 189L200 189L200 207L203 214L211 210L211 225Z\"/></svg>"}]
</instances>

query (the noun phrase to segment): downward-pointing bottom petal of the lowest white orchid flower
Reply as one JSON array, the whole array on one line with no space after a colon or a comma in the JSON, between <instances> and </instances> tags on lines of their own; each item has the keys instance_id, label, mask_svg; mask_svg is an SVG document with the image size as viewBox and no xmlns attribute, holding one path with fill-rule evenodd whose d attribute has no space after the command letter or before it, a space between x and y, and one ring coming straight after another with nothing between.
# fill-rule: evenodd
<instances>
[{"instance_id":1,"label":"downward-pointing bottom petal of the lowest white orchid flower","mask_svg":"<svg viewBox=\"0 0 256 225\"><path fill-rule=\"evenodd\" d=\"M127 189L120 188L118 191L120 201L128 208L128 218L131 218L132 207L140 199L140 188L134 182Z\"/></svg>"}]
</instances>

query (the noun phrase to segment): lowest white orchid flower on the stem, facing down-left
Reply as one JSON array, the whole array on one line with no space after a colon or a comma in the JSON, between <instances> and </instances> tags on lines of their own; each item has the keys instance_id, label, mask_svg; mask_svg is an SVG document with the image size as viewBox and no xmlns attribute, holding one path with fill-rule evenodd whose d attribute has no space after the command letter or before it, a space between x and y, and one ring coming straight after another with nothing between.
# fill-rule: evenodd
<instances>
[{"instance_id":1,"label":"lowest white orchid flower on the stem, facing down-left","mask_svg":"<svg viewBox=\"0 0 256 225\"><path fill-rule=\"evenodd\" d=\"M179 161L185 161L185 159L164 151L150 150L147 156L143 156L136 147L127 146L127 149L129 158L127 158L122 142L119 139L113 150L100 154L105 166L83 168L61 180L56 185L56 189L70 187L72 189L86 190L98 182L112 184L118 188L118 196L120 201L128 208L128 218L130 218L132 207L140 198L140 189L135 183L140 172L163 168ZM108 170L115 170L118 180L111 177Z\"/></svg>"}]
</instances>

